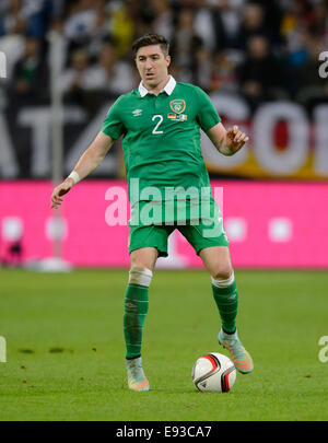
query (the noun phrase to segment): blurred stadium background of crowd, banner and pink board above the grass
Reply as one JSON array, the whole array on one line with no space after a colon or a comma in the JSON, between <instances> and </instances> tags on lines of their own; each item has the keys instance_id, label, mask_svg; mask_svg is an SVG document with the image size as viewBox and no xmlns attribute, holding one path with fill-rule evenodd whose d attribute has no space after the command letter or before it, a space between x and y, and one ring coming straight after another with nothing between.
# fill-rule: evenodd
<instances>
[{"instance_id":1,"label":"blurred stadium background of crowd, banner and pink board above the grass","mask_svg":"<svg viewBox=\"0 0 328 443\"><path fill-rule=\"evenodd\" d=\"M250 136L233 158L202 139L212 185L224 190L234 266L327 268L327 0L1 0L1 266L34 269L54 255L78 267L128 266L128 228L105 220L107 189L126 189L119 142L62 213L50 210L50 193L110 104L139 84L131 43L147 32L169 39L176 80L202 88L224 125ZM200 266L179 234L169 248L159 267Z\"/></svg>"}]
</instances>

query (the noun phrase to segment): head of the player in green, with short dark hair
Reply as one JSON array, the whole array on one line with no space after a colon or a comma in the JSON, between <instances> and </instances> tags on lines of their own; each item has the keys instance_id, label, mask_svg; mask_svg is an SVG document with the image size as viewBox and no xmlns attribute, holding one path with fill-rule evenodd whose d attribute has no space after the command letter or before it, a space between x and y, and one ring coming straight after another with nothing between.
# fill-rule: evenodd
<instances>
[{"instance_id":1,"label":"head of the player in green, with short dark hair","mask_svg":"<svg viewBox=\"0 0 328 443\"><path fill-rule=\"evenodd\" d=\"M157 34L145 34L133 45L137 69L145 86L155 88L167 77L171 63L168 42Z\"/></svg>"}]
</instances>

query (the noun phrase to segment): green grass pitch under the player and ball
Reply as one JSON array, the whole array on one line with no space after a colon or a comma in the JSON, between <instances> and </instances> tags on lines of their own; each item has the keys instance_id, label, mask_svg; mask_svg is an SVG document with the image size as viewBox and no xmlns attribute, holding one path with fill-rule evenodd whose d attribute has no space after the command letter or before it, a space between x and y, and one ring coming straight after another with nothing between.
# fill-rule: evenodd
<instances>
[{"instance_id":1,"label":"green grass pitch under the player and ball","mask_svg":"<svg viewBox=\"0 0 328 443\"><path fill-rule=\"evenodd\" d=\"M199 393L191 368L216 342L206 271L157 270L143 364L149 393L127 388L127 270L0 271L0 420L327 420L328 273L242 271L237 325L255 370L230 393Z\"/></svg>"}]
</instances>

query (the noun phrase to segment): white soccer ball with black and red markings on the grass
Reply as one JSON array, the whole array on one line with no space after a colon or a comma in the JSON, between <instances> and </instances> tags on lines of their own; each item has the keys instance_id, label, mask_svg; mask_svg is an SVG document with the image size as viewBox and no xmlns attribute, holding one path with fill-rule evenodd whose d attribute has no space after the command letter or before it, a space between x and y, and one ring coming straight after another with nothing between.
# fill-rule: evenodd
<instances>
[{"instance_id":1,"label":"white soccer ball with black and red markings on the grass","mask_svg":"<svg viewBox=\"0 0 328 443\"><path fill-rule=\"evenodd\" d=\"M222 353L200 357L192 368L195 386L206 393L227 393L236 380L234 363Z\"/></svg>"}]
</instances>

